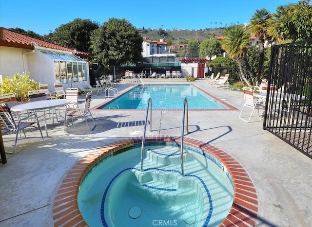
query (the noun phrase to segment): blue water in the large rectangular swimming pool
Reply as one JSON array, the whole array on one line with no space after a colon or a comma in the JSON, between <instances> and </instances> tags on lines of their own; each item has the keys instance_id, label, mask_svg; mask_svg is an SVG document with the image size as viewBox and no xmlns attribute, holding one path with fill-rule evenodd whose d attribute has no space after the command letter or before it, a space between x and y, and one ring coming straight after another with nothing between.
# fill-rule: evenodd
<instances>
[{"instance_id":1,"label":"blue water in the large rectangular swimming pool","mask_svg":"<svg viewBox=\"0 0 312 227\"><path fill-rule=\"evenodd\" d=\"M226 109L192 85L137 86L100 108L146 109L149 98L152 98L153 109L183 109L185 98L189 109Z\"/></svg>"}]
</instances>

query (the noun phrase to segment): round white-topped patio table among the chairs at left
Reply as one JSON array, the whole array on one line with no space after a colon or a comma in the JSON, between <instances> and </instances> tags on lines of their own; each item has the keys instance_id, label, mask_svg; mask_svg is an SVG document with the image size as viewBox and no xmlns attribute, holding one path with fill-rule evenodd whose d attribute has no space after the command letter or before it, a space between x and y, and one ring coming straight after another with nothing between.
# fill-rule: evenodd
<instances>
[{"instance_id":1,"label":"round white-topped patio table among the chairs at left","mask_svg":"<svg viewBox=\"0 0 312 227\"><path fill-rule=\"evenodd\" d=\"M70 101L68 101L66 99L47 99L47 100L40 100L40 101L35 101L35 102L23 103L20 105L14 105L11 107L11 110L17 111L17 112L23 112L23 111L34 111L34 112L36 112L37 110L51 109L51 108L63 106L63 105L69 104L69 103L70 103ZM46 132L46 135L48 137L47 121L46 121L46 117L45 117L45 112L44 112L44 124L45 124L45 132Z\"/></svg>"}]
</instances>

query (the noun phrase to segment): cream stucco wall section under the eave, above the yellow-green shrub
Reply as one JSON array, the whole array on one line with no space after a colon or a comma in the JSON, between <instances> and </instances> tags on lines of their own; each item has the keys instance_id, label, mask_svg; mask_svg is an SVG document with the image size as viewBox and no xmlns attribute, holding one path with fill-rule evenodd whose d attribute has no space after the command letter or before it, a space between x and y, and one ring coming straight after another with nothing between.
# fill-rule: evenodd
<instances>
[{"instance_id":1,"label":"cream stucco wall section under the eave, above the yellow-green shrub","mask_svg":"<svg viewBox=\"0 0 312 227\"><path fill-rule=\"evenodd\" d=\"M27 54L31 50L0 46L0 74L2 78L29 72ZM24 54L23 54L24 53Z\"/></svg>"}]
</instances>

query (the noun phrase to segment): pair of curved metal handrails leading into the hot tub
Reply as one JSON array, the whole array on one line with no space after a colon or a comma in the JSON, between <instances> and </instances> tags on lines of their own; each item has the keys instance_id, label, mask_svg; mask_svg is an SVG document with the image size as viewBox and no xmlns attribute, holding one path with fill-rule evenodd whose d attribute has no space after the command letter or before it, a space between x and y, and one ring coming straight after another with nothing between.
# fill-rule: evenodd
<instances>
[{"instance_id":1,"label":"pair of curved metal handrails leading into the hot tub","mask_svg":"<svg viewBox=\"0 0 312 227\"><path fill-rule=\"evenodd\" d=\"M150 107L151 104L151 107ZM143 158L144 158L144 144L145 144L145 134L146 134L146 126L147 126L147 118L148 118L148 110L150 109L150 131L152 131L152 98L148 99L146 115L145 115L145 123L144 123L144 132L141 146L141 171L143 171ZM189 133L189 117L188 117L188 102L187 98L184 99L183 105L183 117L182 117L182 133L181 133L181 173L184 176L184 167L183 167L183 140L184 140L184 127L185 127L185 115L186 115L186 132Z\"/></svg>"}]
</instances>

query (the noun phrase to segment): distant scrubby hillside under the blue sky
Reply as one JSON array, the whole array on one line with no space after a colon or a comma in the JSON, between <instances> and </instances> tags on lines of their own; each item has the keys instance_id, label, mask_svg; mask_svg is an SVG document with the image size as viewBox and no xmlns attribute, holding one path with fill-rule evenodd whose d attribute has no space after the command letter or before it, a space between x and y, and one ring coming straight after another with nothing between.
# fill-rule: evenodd
<instances>
[{"instance_id":1,"label":"distant scrubby hillside under the blue sky","mask_svg":"<svg viewBox=\"0 0 312 227\"><path fill-rule=\"evenodd\" d=\"M187 43L191 38L204 40L205 38L210 38L211 35L223 35L223 31L224 29L220 28L207 30L162 30L162 35L160 35L158 30L140 29L139 33L142 37L150 40L163 39L164 41L168 41L171 39L172 43L176 44L176 41L180 41L179 43Z\"/></svg>"}]
</instances>

